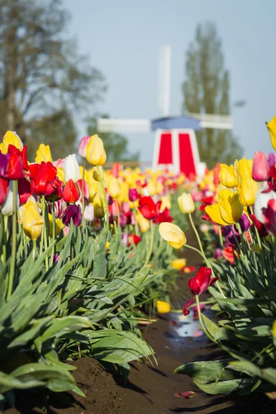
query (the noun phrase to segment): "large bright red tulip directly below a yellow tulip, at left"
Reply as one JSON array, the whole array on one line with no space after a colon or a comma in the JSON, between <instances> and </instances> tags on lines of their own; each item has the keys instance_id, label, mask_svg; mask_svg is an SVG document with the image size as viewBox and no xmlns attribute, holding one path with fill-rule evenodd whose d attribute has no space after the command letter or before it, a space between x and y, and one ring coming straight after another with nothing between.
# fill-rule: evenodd
<instances>
[{"instance_id":1,"label":"large bright red tulip directly below a yellow tulip, at left","mask_svg":"<svg viewBox=\"0 0 276 414\"><path fill-rule=\"evenodd\" d=\"M34 193L45 196L55 195L55 199L62 197L63 182L57 177L57 168L51 162L30 164L29 171Z\"/></svg>"}]
</instances>

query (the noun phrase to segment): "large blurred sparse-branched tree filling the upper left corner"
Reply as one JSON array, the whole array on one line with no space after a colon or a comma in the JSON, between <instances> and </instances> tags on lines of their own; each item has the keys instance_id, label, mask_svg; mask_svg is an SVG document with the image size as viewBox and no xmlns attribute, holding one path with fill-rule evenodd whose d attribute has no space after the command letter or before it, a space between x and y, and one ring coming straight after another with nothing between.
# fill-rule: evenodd
<instances>
[{"instance_id":1,"label":"large blurred sparse-branched tree filling the upper left corner","mask_svg":"<svg viewBox=\"0 0 276 414\"><path fill-rule=\"evenodd\" d=\"M53 144L59 141L58 125L65 126L63 135L68 130L64 115L73 126L72 114L101 97L103 77L67 39L68 19L61 0L0 0L2 135L16 130L30 144L39 129L45 144ZM46 134L48 121L55 123L55 137ZM71 137L66 150L73 149Z\"/></svg>"}]
</instances>

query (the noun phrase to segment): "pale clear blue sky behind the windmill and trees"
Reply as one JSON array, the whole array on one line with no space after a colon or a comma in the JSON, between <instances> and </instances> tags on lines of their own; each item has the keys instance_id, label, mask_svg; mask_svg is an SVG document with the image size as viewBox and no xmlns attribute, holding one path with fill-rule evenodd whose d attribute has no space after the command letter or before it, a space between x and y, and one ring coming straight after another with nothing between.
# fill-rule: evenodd
<instances>
[{"instance_id":1,"label":"pale clear blue sky behind the windmill and trees","mask_svg":"<svg viewBox=\"0 0 276 414\"><path fill-rule=\"evenodd\" d=\"M63 0L69 34L106 78L108 90L91 108L110 117L161 116L157 106L159 47L172 51L170 114L180 115L185 53L198 23L213 21L230 72L233 132L246 157L273 150L265 121L276 114L275 0ZM81 119L80 138L86 135ZM129 134L130 152L152 159L154 133Z\"/></svg>"}]
</instances>

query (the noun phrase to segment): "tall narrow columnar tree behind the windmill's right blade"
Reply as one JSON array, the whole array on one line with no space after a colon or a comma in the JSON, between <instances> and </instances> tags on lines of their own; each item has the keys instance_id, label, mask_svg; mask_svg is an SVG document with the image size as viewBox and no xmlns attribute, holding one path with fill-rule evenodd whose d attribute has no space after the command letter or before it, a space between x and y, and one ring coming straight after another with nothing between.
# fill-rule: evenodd
<instances>
[{"instance_id":1,"label":"tall narrow columnar tree behind the windmill's right blade","mask_svg":"<svg viewBox=\"0 0 276 414\"><path fill-rule=\"evenodd\" d=\"M224 69L221 40L213 23L199 24L195 41L186 53L186 81L182 86L184 111L229 115L229 72ZM206 128L197 132L201 161L213 168L217 161L230 164L242 147L230 130Z\"/></svg>"}]
</instances>

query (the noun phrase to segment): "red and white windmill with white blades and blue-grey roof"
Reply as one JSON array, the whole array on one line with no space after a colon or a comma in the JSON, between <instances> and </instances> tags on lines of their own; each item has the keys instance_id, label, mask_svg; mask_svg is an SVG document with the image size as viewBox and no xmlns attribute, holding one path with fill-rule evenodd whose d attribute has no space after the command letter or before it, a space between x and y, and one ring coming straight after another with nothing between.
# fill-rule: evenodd
<instances>
[{"instance_id":1,"label":"red and white windmill with white blades and blue-grey roof","mask_svg":"<svg viewBox=\"0 0 276 414\"><path fill-rule=\"evenodd\" d=\"M159 52L158 106L162 117L158 119L98 119L99 132L155 131L152 169L169 168L175 173L199 175L205 170L200 163L195 132L201 128L232 129L227 115L192 114L170 115L170 46Z\"/></svg>"}]
</instances>

